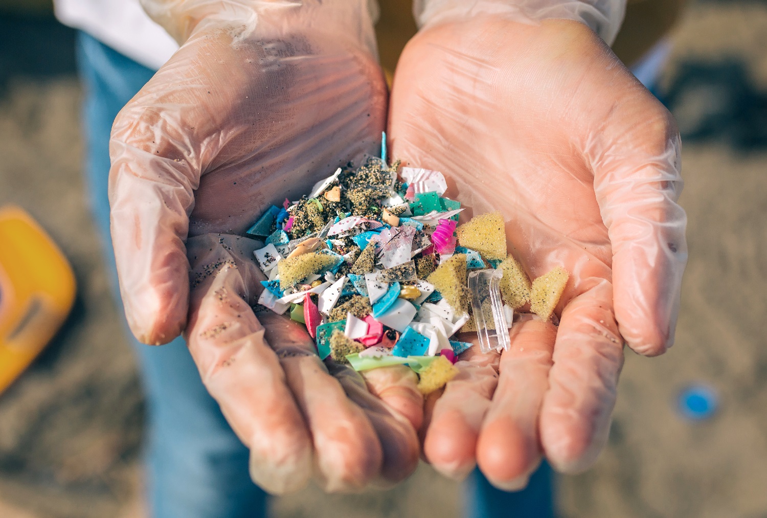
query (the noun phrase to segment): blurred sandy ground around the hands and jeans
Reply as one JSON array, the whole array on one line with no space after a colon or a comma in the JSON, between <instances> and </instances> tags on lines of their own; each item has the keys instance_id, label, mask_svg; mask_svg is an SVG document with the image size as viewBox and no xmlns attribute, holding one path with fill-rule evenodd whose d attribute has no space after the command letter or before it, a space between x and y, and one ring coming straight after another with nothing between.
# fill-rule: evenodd
<instances>
[{"instance_id":1,"label":"blurred sandy ground around the hands and jeans","mask_svg":"<svg viewBox=\"0 0 767 518\"><path fill-rule=\"evenodd\" d=\"M689 2L670 42L656 93L683 135L690 218L676 345L626 351L607 448L558 478L565 518L767 518L767 2ZM78 284L61 332L0 396L3 518L145 516L143 396L85 201L80 101L74 31L47 0L0 0L0 206L35 216ZM458 495L422 465L389 492L309 488L272 514L449 518Z\"/></svg>"}]
</instances>

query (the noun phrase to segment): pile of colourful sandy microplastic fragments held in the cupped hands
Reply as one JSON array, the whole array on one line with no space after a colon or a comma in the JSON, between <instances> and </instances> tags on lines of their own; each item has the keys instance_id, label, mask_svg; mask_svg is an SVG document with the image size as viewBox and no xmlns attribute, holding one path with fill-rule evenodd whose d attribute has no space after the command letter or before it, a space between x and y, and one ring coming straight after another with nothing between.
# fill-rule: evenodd
<instances>
[{"instance_id":1,"label":"pile of colourful sandy microplastic fragments held in the cupped hands","mask_svg":"<svg viewBox=\"0 0 767 518\"><path fill-rule=\"evenodd\" d=\"M357 371L409 365L423 394L458 372L476 331L483 352L509 347L515 308L548 319L568 272L531 284L506 254L500 213L458 226L442 173L368 158L338 168L301 200L272 206L248 230L267 276L258 303L306 325L320 358Z\"/></svg>"}]
</instances>

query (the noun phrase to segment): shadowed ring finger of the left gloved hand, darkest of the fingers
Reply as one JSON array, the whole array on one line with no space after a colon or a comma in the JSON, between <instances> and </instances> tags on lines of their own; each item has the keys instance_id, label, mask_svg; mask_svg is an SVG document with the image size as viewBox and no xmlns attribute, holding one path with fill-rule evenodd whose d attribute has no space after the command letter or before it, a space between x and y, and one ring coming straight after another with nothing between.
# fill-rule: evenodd
<instances>
[{"instance_id":1,"label":"shadowed ring finger of the left gloved hand, darkest of the fingers","mask_svg":"<svg viewBox=\"0 0 767 518\"><path fill-rule=\"evenodd\" d=\"M418 437L410 421L371 394L364 378L353 369L334 361L328 361L328 369L376 431L384 457L380 477L374 480L374 485L388 488L410 476L418 466L419 453Z\"/></svg>"}]
</instances>

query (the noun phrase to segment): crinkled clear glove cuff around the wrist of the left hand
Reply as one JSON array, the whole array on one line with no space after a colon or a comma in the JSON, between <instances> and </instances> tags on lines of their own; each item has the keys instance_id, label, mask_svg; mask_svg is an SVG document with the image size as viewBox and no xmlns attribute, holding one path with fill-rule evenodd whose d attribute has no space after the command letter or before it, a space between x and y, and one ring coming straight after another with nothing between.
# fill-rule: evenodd
<instances>
[{"instance_id":1,"label":"crinkled clear glove cuff around the wrist of the left hand","mask_svg":"<svg viewBox=\"0 0 767 518\"><path fill-rule=\"evenodd\" d=\"M282 33L334 31L357 38L377 54L377 0L140 0L150 18L179 43L201 26L241 28L248 38L268 25Z\"/></svg>"}]
</instances>

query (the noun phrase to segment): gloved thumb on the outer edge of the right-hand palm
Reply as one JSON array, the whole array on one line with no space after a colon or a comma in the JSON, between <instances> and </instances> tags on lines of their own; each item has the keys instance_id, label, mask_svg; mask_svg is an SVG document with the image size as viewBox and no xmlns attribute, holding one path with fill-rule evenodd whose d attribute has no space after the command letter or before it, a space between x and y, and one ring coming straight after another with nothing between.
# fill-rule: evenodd
<instances>
[{"instance_id":1,"label":"gloved thumb on the outer edge of the right-hand palm","mask_svg":"<svg viewBox=\"0 0 767 518\"><path fill-rule=\"evenodd\" d=\"M687 261L680 140L649 93L620 104L592 147L594 190L613 249L614 308L630 348L660 355L673 344ZM636 101L639 99L640 101ZM607 138L607 137L601 137Z\"/></svg>"}]
</instances>

